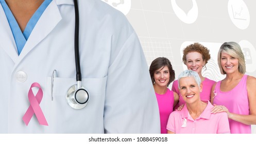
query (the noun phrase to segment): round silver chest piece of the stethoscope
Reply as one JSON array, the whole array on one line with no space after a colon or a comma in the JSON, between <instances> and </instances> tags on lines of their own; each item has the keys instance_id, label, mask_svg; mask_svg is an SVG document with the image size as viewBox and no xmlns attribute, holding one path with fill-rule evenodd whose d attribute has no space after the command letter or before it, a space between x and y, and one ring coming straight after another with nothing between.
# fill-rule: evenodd
<instances>
[{"instance_id":1,"label":"round silver chest piece of the stethoscope","mask_svg":"<svg viewBox=\"0 0 256 144\"><path fill-rule=\"evenodd\" d=\"M82 86L77 88L77 85L72 85L66 94L66 102L69 104L73 109L83 109L86 107L89 101L89 93L86 89Z\"/></svg>"}]
</instances>

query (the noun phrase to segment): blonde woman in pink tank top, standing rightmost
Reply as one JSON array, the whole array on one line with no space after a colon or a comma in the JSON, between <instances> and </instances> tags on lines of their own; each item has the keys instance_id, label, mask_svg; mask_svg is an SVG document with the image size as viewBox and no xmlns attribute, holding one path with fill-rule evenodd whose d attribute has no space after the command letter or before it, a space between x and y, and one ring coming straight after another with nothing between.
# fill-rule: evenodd
<instances>
[{"instance_id":1,"label":"blonde woman in pink tank top, standing rightmost","mask_svg":"<svg viewBox=\"0 0 256 144\"><path fill-rule=\"evenodd\" d=\"M220 73L226 78L212 87L212 113L226 112L231 133L251 133L256 124L256 78L245 75L246 63L239 44L226 42L218 51Z\"/></svg>"}]
</instances>

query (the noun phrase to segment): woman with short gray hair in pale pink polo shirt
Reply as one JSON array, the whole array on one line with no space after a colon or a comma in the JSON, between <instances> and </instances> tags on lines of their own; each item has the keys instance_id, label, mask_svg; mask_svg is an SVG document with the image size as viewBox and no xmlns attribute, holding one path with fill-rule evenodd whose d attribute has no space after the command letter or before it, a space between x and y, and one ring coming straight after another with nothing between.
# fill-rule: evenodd
<instances>
[{"instance_id":1,"label":"woman with short gray hair in pale pink polo shirt","mask_svg":"<svg viewBox=\"0 0 256 144\"><path fill-rule=\"evenodd\" d=\"M195 71L183 71L178 82L185 105L181 111L170 114L166 127L168 133L230 133L227 113L212 114L210 110L214 106L200 99L203 87Z\"/></svg>"}]
</instances>

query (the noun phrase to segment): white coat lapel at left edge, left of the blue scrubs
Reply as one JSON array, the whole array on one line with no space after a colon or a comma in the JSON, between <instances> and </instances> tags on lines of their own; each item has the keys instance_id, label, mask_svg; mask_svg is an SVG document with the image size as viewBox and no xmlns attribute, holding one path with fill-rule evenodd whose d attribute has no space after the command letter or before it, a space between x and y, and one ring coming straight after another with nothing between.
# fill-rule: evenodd
<instances>
[{"instance_id":1,"label":"white coat lapel at left edge, left of the blue scrubs","mask_svg":"<svg viewBox=\"0 0 256 144\"><path fill-rule=\"evenodd\" d=\"M7 55L15 62L18 59L16 43L3 7L0 5L0 49L4 49Z\"/></svg>"}]
</instances>

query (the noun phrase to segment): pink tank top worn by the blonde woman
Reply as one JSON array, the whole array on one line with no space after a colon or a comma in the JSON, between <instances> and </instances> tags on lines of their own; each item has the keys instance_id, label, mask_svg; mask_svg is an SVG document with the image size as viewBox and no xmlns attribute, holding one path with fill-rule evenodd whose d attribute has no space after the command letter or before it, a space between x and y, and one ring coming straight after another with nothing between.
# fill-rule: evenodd
<instances>
[{"instance_id":1,"label":"pink tank top worn by the blonde woman","mask_svg":"<svg viewBox=\"0 0 256 144\"><path fill-rule=\"evenodd\" d=\"M213 103L217 105L225 105L230 113L249 115L249 101L246 87L247 75L244 75L240 82L228 92L220 91L220 83L216 83L214 89ZM231 134L250 134L251 125L243 124L229 119Z\"/></svg>"}]
</instances>

